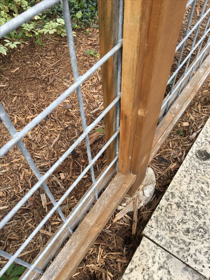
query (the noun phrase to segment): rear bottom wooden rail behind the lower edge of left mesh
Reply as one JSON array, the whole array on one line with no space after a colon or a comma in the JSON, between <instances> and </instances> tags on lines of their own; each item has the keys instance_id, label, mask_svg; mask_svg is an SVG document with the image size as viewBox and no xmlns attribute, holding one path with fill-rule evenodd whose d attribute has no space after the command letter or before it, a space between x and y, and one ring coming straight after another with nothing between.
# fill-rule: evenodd
<instances>
[{"instance_id":1,"label":"rear bottom wooden rail behind the lower edge of left mesh","mask_svg":"<svg viewBox=\"0 0 210 280\"><path fill-rule=\"evenodd\" d=\"M106 170L106 168L104 168L102 170L102 172L100 173L100 175L97 177L97 179L102 175L102 173L104 172L104 170ZM103 180L98 184L97 186L97 190L100 192L102 189L104 189L110 182L112 176L114 175L114 171L113 170L109 170L107 172L107 174L104 176ZM97 180L96 179L96 180ZM91 188L92 186L90 186ZM84 216L86 209L88 209L91 204L94 202L95 197L94 197L94 192L92 192L91 196L88 198L88 200L86 200L86 202L84 203L84 207L82 207L78 213L76 213L76 215L73 217L72 221L69 223L69 225L71 227L75 227L79 220L82 219L82 217ZM62 224L60 225L60 227L62 226ZM60 227L58 228L58 230L60 229ZM47 267L47 265L49 264L50 260L52 259L52 257L58 252L60 246L64 243L65 239L67 237L70 236L70 233L68 231L67 228L64 229L64 231L60 234L59 238L53 243L53 245L51 246L51 248L47 251L47 253L43 256L42 260L39 262L39 264L37 265L38 268L40 269L45 269ZM47 244L50 242L51 238L49 238L49 241L47 242ZM47 244L45 246L47 246ZM39 257L39 254L37 255L37 257ZM32 264L34 263L34 261L37 259L37 257L35 257L32 261ZM22 276L25 275L25 273L27 272L28 269L25 270L25 272L22 274ZM31 274L29 275L27 280L34 280L37 279L40 276L39 273L37 273L36 271L32 271ZM20 278L21 279L21 278Z\"/></svg>"}]
</instances>

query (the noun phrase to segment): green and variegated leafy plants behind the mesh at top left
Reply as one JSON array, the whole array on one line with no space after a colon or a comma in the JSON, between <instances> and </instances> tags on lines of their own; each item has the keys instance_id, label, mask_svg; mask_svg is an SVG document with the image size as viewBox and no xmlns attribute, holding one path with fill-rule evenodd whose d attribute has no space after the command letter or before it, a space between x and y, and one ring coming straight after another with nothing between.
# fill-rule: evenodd
<instances>
[{"instance_id":1,"label":"green and variegated leafy plants behind the mesh at top left","mask_svg":"<svg viewBox=\"0 0 210 280\"><path fill-rule=\"evenodd\" d=\"M36 3L38 1L36 0ZM35 4L35 0L1 0L0 25L31 8L33 4ZM85 33L88 33L89 30L86 30L86 27L98 27L97 8L97 0L70 0L69 9L73 22L72 28L82 28ZM60 2L56 3L49 10L35 16L31 21L24 23L18 30L14 30L6 35L7 41L4 45L0 45L0 53L6 55L8 48L16 48L18 44L23 43L23 39L29 38L35 38L37 44L44 46L41 43L40 37L45 34L54 33L62 37L66 36ZM75 31L73 31L73 36L76 37ZM15 42L11 42L11 40L15 40Z\"/></svg>"}]
</instances>

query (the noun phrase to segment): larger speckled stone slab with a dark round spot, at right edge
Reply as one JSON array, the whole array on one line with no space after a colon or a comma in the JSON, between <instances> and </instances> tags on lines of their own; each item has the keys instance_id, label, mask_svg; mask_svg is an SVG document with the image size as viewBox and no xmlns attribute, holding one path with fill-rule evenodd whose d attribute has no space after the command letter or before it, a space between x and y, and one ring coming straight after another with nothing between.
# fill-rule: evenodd
<instances>
[{"instance_id":1,"label":"larger speckled stone slab with a dark round spot, at right edge","mask_svg":"<svg viewBox=\"0 0 210 280\"><path fill-rule=\"evenodd\" d=\"M210 277L210 118L143 234Z\"/></svg>"}]
</instances>

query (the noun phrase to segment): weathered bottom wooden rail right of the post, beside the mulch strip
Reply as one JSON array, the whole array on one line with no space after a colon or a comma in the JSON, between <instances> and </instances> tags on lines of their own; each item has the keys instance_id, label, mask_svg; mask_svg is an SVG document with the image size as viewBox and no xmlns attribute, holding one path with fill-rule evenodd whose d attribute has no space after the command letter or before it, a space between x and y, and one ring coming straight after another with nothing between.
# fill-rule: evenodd
<instances>
[{"instance_id":1,"label":"weathered bottom wooden rail right of the post, beside the mulch strip","mask_svg":"<svg viewBox=\"0 0 210 280\"><path fill-rule=\"evenodd\" d=\"M199 70L197 70L195 75L190 80L189 84L187 84L187 86L184 88L182 94L177 98L168 111L167 115L158 125L152 145L149 163L152 161L154 156L156 156L159 148L173 130L179 118L181 118L182 114L185 112L190 102L193 100L209 75L210 55L205 59Z\"/></svg>"}]
</instances>

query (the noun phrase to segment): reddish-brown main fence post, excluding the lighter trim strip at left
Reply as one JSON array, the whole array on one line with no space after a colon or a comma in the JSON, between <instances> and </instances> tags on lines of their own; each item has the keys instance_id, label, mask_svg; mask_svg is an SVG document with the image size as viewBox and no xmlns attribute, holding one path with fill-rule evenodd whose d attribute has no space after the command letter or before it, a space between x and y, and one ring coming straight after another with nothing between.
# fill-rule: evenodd
<instances>
[{"instance_id":1,"label":"reddish-brown main fence post, excluding the lighter trim strip at left","mask_svg":"<svg viewBox=\"0 0 210 280\"><path fill-rule=\"evenodd\" d=\"M152 1L131 164L131 172L137 174L137 179L129 195L136 192L146 174L186 3L182 0Z\"/></svg>"}]
</instances>

